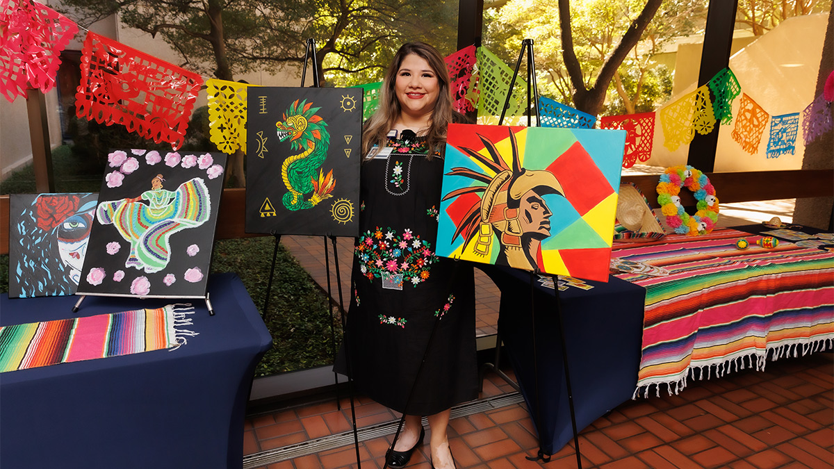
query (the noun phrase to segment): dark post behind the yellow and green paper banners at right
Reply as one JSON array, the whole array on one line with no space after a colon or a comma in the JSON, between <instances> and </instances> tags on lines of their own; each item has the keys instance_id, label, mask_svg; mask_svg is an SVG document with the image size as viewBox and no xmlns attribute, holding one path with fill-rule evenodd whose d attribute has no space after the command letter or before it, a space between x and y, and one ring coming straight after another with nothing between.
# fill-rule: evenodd
<instances>
[{"instance_id":1,"label":"dark post behind the yellow and green paper banners at right","mask_svg":"<svg viewBox=\"0 0 834 469\"><path fill-rule=\"evenodd\" d=\"M738 7L738 0L712 0L710 2L710 8L706 13L698 87L709 83L716 73L721 72L730 63L732 33L736 26L736 7ZM705 173L715 170L720 127L721 122L716 122L715 129L712 129L709 134L695 134L695 138L689 145L689 157L686 159L686 164L701 169Z\"/></svg>"}]
</instances>

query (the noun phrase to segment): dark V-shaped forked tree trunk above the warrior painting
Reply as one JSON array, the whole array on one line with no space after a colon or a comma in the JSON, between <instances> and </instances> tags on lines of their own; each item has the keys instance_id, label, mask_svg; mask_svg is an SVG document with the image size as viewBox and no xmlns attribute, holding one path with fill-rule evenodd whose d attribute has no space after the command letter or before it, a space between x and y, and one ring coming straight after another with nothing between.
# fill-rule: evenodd
<instances>
[{"instance_id":1,"label":"dark V-shaped forked tree trunk above the warrior painting","mask_svg":"<svg viewBox=\"0 0 834 469\"><path fill-rule=\"evenodd\" d=\"M646 6L640 16L631 23L631 26L623 34L620 43L611 53L610 57L605 60L602 65L600 74L596 77L594 86L590 89L585 88L585 82L582 79L582 68L579 59L576 58L573 45L573 33L570 29L570 0L559 0L559 25L561 28L562 39L562 59L565 62L568 75L570 76L570 83L574 87L574 104L577 109L591 115L600 113L602 104L605 103L605 93L614 78L617 68L623 63L629 51L634 48L646 26L651 22L651 18L655 17L657 9L661 7L662 0L647 0Z\"/></svg>"}]
</instances>

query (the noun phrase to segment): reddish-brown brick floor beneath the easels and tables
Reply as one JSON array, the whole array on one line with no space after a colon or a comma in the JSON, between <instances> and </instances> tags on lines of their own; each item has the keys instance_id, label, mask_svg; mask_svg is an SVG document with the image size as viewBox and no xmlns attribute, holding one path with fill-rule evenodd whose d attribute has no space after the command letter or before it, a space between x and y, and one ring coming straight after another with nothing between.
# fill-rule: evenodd
<instances>
[{"instance_id":1,"label":"reddish-brown brick floor beneath the easels and tables","mask_svg":"<svg viewBox=\"0 0 834 469\"><path fill-rule=\"evenodd\" d=\"M510 377L511 370L507 370ZM715 381L690 381L677 396L650 396L628 401L580 431L582 466L599 469L751 468L831 469L834 467L834 354L816 353L767 364L766 381L756 371L740 371ZM759 373L761 374L761 373ZM826 386L806 386L802 376L817 376ZM799 377L798 379L796 379ZM511 388L488 373L480 398L500 396ZM751 381L756 381L750 384ZM761 394L778 382L791 391L790 400L775 404ZM491 391L487 391L491 390ZM397 415L360 397L356 414L366 425L393 421ZM764 401L771 404L761 405ZM343 403L346 403L343 400ZM743 404L761 406L753 413ZM737 407L737 408L736 408ZM362 416L362 417L359 417ZM266 451L350 428L350 409L335 401L314 403L271 414L249 416L244 426L244 452ZM362 426L362 423L359 424ZM538 443L523 404L459 417L450 422L450 446L459 468L576 467L571 441L549 463L529 461ZM363 467L382 467L391 436L359 443ZM428 441L428 438L426 439ZM429 446L415 453L409 467L428 468ZM336 469L355 467L352 444L318 454L276 462L257 469Z\"/></svg>"}]
</instances>

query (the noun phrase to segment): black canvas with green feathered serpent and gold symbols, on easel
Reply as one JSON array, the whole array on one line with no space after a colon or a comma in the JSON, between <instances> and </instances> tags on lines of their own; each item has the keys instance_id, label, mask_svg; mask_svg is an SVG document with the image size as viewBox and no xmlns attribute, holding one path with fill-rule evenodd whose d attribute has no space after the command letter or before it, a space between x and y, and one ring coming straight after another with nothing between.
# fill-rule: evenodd
<instances>
[{"instance_id":1,"label":"black canvas with green feathered serpent and gold symbols, on easel","mask_svg":"<svg viewBox=\"0 0 834 469\"><path fill-rule=\"evenodd\" d=\"M249 88L246 231L356 236L362 88Z\"/></svg>"}]
</instances>

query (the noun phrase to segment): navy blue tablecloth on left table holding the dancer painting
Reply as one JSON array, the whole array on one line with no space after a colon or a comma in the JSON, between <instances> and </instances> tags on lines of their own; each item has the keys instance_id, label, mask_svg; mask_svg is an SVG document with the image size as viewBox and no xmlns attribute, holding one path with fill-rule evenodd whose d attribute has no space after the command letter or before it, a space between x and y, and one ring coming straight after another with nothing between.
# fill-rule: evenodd
<instances>
[{"instance_id":1,"label":"navy blue tablecloth on left table holding the dancer painting","mask_svg":"<svg viewBox=\"0 0 834 469\"><path fill-rule=\"evenodd\" d=\"M177 350L64 363L0 375L0 467L243 466L244 411L254 367L272 345L237 275L214 275L188 300L199 335ZM78 297L0 297L0 325L73 316ZM183 300L89 296L77 315Z\"/></svg>"}]
</instances>

